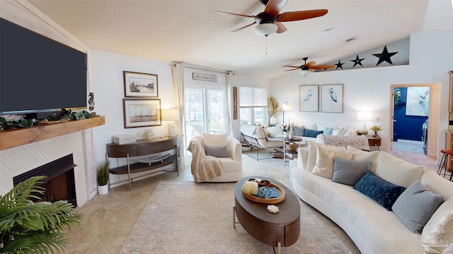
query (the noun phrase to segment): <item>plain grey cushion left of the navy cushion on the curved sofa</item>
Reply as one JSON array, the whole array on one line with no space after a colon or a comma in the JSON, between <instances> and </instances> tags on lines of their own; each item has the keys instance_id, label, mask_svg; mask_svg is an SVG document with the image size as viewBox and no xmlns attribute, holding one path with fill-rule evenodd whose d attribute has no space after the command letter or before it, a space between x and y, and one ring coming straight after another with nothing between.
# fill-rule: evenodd
<instances>
[{"instance_id":1,"label":"plain grey cushion left of the navy cushion on the curved sofa","mask_svg":"<svg viewBox=\"0 0 453 254\"><path fill-rule=\"evenodd\" d=\"M335 157L333 158L332 181L355 186L362 179L362 176L367 174L371 165L372 162L360 162L353 159Z\"/></svg>"}]
</instances>

